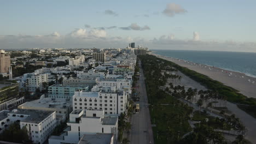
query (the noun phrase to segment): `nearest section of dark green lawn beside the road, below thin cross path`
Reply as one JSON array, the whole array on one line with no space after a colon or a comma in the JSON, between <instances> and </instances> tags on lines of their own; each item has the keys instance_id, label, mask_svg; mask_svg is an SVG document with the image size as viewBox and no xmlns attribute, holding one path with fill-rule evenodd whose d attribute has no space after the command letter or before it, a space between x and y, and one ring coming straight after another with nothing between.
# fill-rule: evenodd
<instances>
[{"instance_id":1,"label":"nearest section of dark green lawn beside the road, below thin cross path","mask_svg":"<svg viewBox=\"0 0 256 144\"><path fill-rule=\"evenodd\" d=\"M177 104L153 105L149 108L152 124L156 124L156 127L153 127L155 143L178 142L184 134L192 130L187 117L191 107Z\"/></svg>"}]
</instances>

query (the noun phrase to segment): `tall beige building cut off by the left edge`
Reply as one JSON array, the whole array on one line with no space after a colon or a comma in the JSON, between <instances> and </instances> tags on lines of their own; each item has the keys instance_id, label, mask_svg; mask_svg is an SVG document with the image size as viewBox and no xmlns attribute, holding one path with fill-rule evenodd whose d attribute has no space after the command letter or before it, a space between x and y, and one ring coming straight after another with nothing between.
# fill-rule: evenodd
<instances>
[{"instance_id":1,"label":"tall beige building cut off by the left edge","mask_svg":"<svg viewBox=\"0 0 256 144\"><path fill-rule=\"evenodd\" d=\"M10 67L10 56L5 55L3 50L0 52L0 73L8 73Z\"/></svg>"}]
</instances>

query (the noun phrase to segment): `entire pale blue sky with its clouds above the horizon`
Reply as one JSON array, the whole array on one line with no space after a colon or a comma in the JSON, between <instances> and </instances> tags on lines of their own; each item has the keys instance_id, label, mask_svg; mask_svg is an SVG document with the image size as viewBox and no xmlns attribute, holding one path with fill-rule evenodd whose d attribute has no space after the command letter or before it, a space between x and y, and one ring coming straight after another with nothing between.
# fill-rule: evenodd
<instances>
[{"instance_id":1,"label":"entire pale blue sky with its clouds above the horizon","mask_svg":"<svg viewBox=\"0 0 256 144\"><path fill-rule=\"evenodd\" d=\"M0 49L256 52L256 1L1 1Z\"/></svg>"}]
</instances>

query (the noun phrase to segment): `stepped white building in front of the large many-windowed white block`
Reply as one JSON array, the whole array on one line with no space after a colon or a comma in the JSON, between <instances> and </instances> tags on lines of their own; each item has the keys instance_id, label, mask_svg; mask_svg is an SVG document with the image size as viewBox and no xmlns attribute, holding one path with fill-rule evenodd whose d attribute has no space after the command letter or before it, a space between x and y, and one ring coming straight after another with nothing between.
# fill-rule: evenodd
<instances>
[{"instance_id":1,"label":"stepped white building in front of the large many-windowed white block","mask_svg":"<svg viewBox=\"0 0 256 144\"><path fill-rule=\"evenodd\" d=\"M78 143L83 135L113 134L118 136L118 117L104 116L103 110L74 110L69 115L68 127L60 136L51 136L49 144Z\"/></svg>"}]
</instances>

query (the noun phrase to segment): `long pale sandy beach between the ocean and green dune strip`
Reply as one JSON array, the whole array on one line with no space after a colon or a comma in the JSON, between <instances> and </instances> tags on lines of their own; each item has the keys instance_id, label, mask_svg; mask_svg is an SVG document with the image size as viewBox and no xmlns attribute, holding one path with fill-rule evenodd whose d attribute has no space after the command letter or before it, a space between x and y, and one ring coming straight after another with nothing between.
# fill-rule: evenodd
<instances>
[{"instance_id":1,"label":"long pale sandy beach between the ocean and green dune strip","mask_svg":"<svg viewBox=\"0 0 256 144\"><path fill-rule=\"evenodd\" d=\"M213 80L224 83L226 86L237 89L243 95L247 97L256 98L256 78L247 76L243 73L235 71L224 70L217 67L211 67L204 64L198 64L194 62L184 61L182 59L172 58L150 53L151 55L158 56L168 61L174 62L182 67L195 70L198 73L211 77Z\"/></svg>"}]
</instances>

